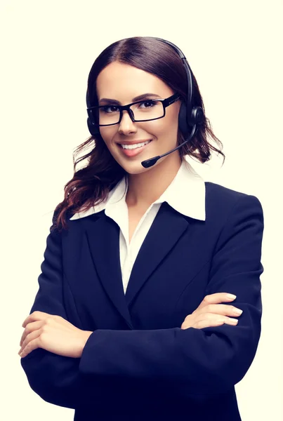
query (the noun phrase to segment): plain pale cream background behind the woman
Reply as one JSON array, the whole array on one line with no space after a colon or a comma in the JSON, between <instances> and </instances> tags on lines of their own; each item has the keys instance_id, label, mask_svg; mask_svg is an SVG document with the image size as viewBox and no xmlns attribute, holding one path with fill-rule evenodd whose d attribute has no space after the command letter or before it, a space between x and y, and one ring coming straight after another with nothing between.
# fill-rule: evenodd
<instances>
[{"instance_id":1,"label":"plain pale cream background behind the woman","mask_svg":"<svg viewBox=\"0 0 283 421\"><path fill-rule=\"evenodd\" d=\"M263 319L236 385L243 421L282 420L282 1L1 1L1 420L72 420L32 392L20 367L22 321L55 206L88 138L86 81L112 42L158 36L185 53L226 161L205 180L261 201ZM126 396L125 396L126 399ZM111 397L110 397L111 401Z\"/></svg>"}]
</instances>

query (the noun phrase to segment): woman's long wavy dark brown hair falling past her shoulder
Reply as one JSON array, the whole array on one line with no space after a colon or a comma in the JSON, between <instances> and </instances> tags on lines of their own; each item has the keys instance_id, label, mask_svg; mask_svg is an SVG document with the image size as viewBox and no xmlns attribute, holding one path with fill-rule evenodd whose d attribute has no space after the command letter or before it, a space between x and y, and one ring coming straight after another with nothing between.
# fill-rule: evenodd
<instances>
[{"instance_id":1,"label":"woman's long wavy dark brown hair falling past her shoulder","mask_svg":"<svg viewBox=\"0 0 283 421\"><path fill-rule=\"evenodd\" d=\"M88 98L91 106L98 105L96 93L98 74L112 62L125 63L156 75L174 93L179 93L180 100L187 102L187 75L178 53L171 46L157 39L146 36L133 36L114 42L96 58L88 76ZM202 95L199 92L199 87L193 74L192 83L192 105L202 107L204 110ZM205 116L195 136L190 142L178 149L180 157L189 155L204 163L210 159L211 150L213 150L223 156L224 162L225 155L221 152L221 149L217 149L209 143L209 137L216 142L218 147L223 148L222 142L214 135L209 119ZM178 145L184 141L182 133L178 131ZM75 159L79 152L86 152L90 145L90 152ZM77 164L84 159L87 159L86 166L76 171ZM73 165L74 176L64 187L64 200L55 208L53 227L58 228L60 226L66 229L67 219L70 218L70 214L74 214L79 210L88 210L91 206L98 205L104 201L110 190L117 185L121 178L127 175L124 168L113 158L100 134L91 135L75 149Z\"/></svg>"}]
</instances>

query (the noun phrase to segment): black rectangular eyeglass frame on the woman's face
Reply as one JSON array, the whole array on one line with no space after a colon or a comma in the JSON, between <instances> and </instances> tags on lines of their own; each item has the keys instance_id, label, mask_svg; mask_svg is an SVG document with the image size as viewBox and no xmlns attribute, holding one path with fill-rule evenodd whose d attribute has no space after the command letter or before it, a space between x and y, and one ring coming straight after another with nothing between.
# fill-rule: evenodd
<instances>
[{"instance_id":1,"label":"black rectangular eyeglass frame on the woman's face","mask_svg":"<svg viewBox=\"0 0 283 421\"><path fill-rule=\"evenodd\" d=\"M166 112L165 109L166 107L169 107L169 105L173 104L173 102L176 102L178 99L180 98L180 95L178 93L174 93L173 95L169 96L168 98L165 98L164 100L157 100L157 99L150 99L148 98L147 100L143 100L143 101L136 101L136 102L131 102L131 104L127 104L127 105L116 105L116 104L107 104L107 105L98 105L96 107L88 107L87 108L87 112L88 112L88 117L91 120L91 123L93 123L93 125L95 126L114 126L115 124L119 124L121 122L121 119L123 117L123 111L124 109L126 109L126 111L128 112L131 121L136 121L136 122L140 122L140 121L152 121L152 120L158 120L158 119L162 119ZM146 119L146 120L136 120L134 119L133 116L133 111L131 110L131 105L134 104L142 104L143 102L147 102L147 101L159 101L162 102L163 105L163 116L160 117L156 117L155 119ZM119 121L117 121L117 123L111 123L111 124L98 124L95 122L95 116L93 115L96 111L99 112L100 108L105 108L105 107L110 107L110 106L114 106L119 108L119 112L120 112L120 117L119 117Z\"/></svg>"}]
</instances>

